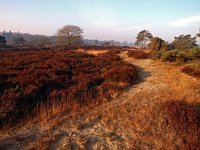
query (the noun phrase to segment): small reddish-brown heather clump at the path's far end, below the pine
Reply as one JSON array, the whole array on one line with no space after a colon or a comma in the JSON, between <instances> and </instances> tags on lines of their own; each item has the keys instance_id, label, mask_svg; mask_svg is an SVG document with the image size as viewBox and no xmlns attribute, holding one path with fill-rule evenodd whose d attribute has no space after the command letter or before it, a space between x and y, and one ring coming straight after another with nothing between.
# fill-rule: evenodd
<instances>
[{"instance_id":1,"label":"small reddish-brown heather clump at the path's far end, below the pine","mask_svg":"<svg viewBox=\"0 0 200 150\"><path fill-rule=\"evenodd\" d=\"M150 57L150 54L142 50L132 50L128 52L128 56L135 59L147 59Z\"/></svg>"}]
</instances>

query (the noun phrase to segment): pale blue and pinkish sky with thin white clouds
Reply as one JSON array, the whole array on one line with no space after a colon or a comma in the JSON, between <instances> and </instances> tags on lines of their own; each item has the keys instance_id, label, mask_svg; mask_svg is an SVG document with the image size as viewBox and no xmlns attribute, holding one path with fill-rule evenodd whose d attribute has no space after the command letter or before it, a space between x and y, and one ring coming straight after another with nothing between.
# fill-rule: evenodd
<instances>
[{"instance_id":1,"label":"pale blue and pinkish sky with thin white clouds","mask_svg":"<svg viewBox=\"0 0 200 150\"><path fill-rule=\"evenodd\" d=\"M0 31L55 35L78 25L84 38L134 42L137 33L172 41L200 28L200 0L0 0Z\"/></svg>"}]
</instances>

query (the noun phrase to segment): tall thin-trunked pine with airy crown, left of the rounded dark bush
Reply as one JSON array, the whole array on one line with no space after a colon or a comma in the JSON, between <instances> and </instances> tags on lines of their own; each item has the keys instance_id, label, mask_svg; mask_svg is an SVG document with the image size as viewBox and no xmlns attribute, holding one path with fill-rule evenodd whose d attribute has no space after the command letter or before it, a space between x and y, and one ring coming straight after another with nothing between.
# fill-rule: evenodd
<instances>
[{"instance_id":1,"label":"tall thin-trunked pine with airy crown, left of the rounded dark bush","mask_svg":"<svg viewBox=\"0 0 200 150\"><path fill-rule=\"evenodd\" d=\"M152 39L152 34L147 30L142 30L137 34L135 45L146 46L146 42Z\"/></svg>"}]
</instances>

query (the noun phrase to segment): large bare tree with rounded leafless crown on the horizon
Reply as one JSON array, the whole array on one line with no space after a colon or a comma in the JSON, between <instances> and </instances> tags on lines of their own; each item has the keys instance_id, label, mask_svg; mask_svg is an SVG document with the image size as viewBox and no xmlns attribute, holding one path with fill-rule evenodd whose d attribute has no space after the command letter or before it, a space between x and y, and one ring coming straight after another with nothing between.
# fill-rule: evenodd
<instances>
[{"instance_id":1,"label":"large bare tree with rounded leafless crown on the horizon","mask_svg":"<svg viewBox=\"0 0 200 150\"><path fill-rule=\"evenodd\" d=\"M62 46L77 45L82 42L83 29L76 25L65 25L57 31L57 44Z\"/></svg>"}]
</instances>

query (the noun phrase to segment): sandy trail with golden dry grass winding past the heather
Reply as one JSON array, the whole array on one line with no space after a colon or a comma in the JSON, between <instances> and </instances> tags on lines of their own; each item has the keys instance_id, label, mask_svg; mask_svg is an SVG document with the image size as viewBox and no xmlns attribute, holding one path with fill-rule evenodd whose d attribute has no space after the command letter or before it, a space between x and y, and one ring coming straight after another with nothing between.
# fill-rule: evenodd
<instances>
[{"instance_id":1,"label":"sandy trail with golden dry grass winding past the heather","mask_svg":"<svg viewBox=\"0 0 200 150\"><path fill-rule=\"evenodd\" d=\"M137 66L140 81L136 85L76 120L57 118L46 125L2 135L0 149L179 148L183 141L175 131L167 130L160 106L169 98L200 99L199 80L175 66L135 60L126 52L120 56ZM173 94L176 92L181 94Z\"/></svg>"}]
</instances>

